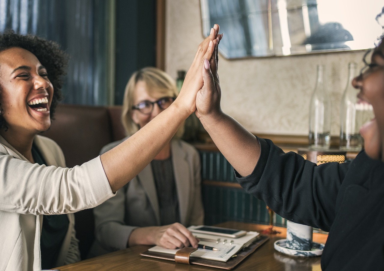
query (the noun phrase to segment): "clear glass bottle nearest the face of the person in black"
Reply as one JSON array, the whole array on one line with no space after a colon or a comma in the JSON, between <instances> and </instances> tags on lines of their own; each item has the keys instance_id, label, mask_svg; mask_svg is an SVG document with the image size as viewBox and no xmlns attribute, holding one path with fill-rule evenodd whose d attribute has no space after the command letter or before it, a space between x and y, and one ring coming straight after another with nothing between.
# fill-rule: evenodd
<instances>
[{"instance_id":1,"label":"clear glass bottle nearest the face of the person in black","mask_svg":"<svg viewBox=\"0 0 384 271\"><path fill-rule=\"evenodd\" d=\"M348 81L340 106L340 145L344 151L359 151L362 148L362 137L359 129L363 124L364 105L358 103L358 90L352 86L356 72L356 63L348 64Z\"/></svg>"}]
</instances>

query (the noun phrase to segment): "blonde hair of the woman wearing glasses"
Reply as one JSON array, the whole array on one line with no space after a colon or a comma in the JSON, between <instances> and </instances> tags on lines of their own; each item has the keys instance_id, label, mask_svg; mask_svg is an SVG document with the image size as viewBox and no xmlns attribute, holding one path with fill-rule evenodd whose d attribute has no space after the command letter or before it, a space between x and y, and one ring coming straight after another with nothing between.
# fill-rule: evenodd
<instances>
[{"instance_id":1,"label":"blonde hair of the woman wearing glasses","mask_svg":"<svg viewBox=\"0 0 384 271\"><path fill-rule=\"evenodd\" d=\"M165 71L155 67L146 67L135 71L125 87L124 100L122 104L121 122L126 135L133 135L140 127L132 120L132 106L134 105L134 89L138 81L144 81L147 85L148 94L161 93L165 96L177 97L179 91L175 80ZM181 138L184 134L184 123L175 133L174 137Z\"/></svg>"}]
</instances>

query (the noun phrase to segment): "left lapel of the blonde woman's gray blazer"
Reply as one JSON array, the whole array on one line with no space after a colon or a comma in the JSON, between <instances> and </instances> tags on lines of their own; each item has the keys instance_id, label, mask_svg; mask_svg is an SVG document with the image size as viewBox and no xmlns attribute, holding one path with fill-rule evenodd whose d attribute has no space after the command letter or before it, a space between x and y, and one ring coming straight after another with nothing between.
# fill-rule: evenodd
<instances>
[{"instance_id":1,"label":"left lapel of the blonde woman's gray blazer","mask_svg":"<svg viewBox=\"0 0 384 271\"><path fill-rule=\"evenodd\" d=\"M138 178L144 191L146 192L148 200L151 203L152 209L154 210L154 213L156 215L157 224L160 225L159 200L157 199L156 184L155 184L155 179L153 178L151 163L149 163L149 165L147 165L137 175L136 178Z\"/></svg>"}]
</instances>

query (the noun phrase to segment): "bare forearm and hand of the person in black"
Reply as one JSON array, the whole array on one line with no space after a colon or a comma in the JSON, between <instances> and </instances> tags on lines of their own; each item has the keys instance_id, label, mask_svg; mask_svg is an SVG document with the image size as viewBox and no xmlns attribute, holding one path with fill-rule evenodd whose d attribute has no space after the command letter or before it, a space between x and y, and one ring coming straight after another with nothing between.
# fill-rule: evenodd
<instances>
[{"instance_id":1,"label":"bare forearm and hand of the person in black","mask_svg":"<svg viewBox=\"0 0 384 271\"><path fill-rule=\"evenodd\" d=\"M204 86L196 96L196 115L233 168L241 176L247 176L252 173L260 157L260 144L252 133L221 110L217 48L215 50L210 61L204 60Z\"/></svg>"}]
</instances>

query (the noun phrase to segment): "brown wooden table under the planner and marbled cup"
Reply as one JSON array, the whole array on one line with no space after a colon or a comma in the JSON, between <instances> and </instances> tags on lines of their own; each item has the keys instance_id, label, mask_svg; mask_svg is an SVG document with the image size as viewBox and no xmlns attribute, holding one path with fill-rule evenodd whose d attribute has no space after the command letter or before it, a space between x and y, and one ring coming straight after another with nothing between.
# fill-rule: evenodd
<instances>
[{"instance_id":1,"label":"brown wooden table under the planner and marbled cup","mask_svg":"<svg viewBox=\"0 0 384 271\"><path fill-rule=\"evenodd\" d=\"M240 222L225 222L217 226L243 229L248 231L262 231L268 228L266 225L240 223ZM233 270L271 270L271 271L321 271L321 257L303 258L290 256L276 251L273 248L273 243L279 239L285 239L286 228L276 227L276 230L281 231L277 236L271 236L260 248L249 255L242 263L236 266ZM313 234L313 241L325 243L328 235L321 233ZM223 270L218 268L210 268L205 266L177 264L173 261L152 259L139 254L146 251L151 246L134 246L132 248L123 249L113 253L108 253L92 259L80 261L78 263L60 266L57 269L60 271L129 271L129 270Z\"/></svg>"}]
</instances>

